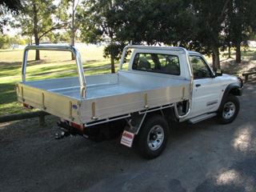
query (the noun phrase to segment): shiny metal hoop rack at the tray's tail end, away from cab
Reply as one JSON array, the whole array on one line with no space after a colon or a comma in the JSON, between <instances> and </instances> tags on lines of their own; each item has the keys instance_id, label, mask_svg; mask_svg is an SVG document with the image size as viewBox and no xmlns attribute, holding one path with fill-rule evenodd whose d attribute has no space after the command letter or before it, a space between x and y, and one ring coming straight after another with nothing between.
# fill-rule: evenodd
<instances>
[{"instance_id":1,"label":"shiny metal hoop rack at the tray's tail end, away from cab","mask_svg":"<svg viewBox=\"0 0 256 192\"><path fill-rule=\"evenodd\" d=\"M80 83L80 97L86 98L86 78L82 67L82 60L79 51L74 46L58 46L58 45L40 45L40 46L26 46L22 61L22 83L26 82L26 64L29 50L58 50L70 51L74 54L78 70L78 79Z\"/></svg>"}]
</instances>

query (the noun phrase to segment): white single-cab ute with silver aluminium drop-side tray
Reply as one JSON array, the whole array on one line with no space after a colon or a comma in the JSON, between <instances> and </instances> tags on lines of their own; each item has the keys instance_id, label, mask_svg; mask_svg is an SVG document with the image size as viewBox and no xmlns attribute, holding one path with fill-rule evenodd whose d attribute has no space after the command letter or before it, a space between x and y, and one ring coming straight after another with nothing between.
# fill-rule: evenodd
<instances>
[{"instance_id":1,"label":"white single-cab ute with silver aluminium drop-side tray","mask_svg":"<svg viewBox=\"0 0 256 192\"><path fill-rule=\"evenodd\" d=\"M78 78L26 81L29 50L63 50L75 55ZM130 58L130 59L127 59ZM58 116L61 136L100 140L117 137L144 158L166 147L171 122L200 122L218 116L233 122L242 79L210 69L202 54L182 47L126 46L117 74L85 76L73 46L26 46L18 101Z\"/></svg>"}]
</instances>

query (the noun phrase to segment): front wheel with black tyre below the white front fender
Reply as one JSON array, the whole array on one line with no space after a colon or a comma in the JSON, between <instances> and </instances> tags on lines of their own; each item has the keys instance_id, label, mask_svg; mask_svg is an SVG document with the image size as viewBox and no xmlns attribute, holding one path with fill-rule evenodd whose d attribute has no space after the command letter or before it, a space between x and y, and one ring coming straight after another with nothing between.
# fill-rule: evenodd
<instances>
[{"instance_id":1,"label":"front wheel with black tyre below the white front fender","mask_svg":"<svg viewBox=\"0 0 256 192\"><path fill-rule=\"evenodd\" d=\"M229 94L218 111L218 119L222 124L233 122L238 116L240 103L236 96Z\"/></svg>"}]
</instances>

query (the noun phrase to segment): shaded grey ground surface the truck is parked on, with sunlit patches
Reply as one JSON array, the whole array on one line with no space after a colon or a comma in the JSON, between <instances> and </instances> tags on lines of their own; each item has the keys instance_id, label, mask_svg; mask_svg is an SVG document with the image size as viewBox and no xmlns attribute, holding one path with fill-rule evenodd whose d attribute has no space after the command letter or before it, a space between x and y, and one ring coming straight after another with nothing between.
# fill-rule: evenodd
<instances>
[{"instance_id":1,"label":"shaded grey ground surface the truck is parked on, with sunlit patches","mask_svg":"<svg viewBox=\"0 0 256 192\"><path fill-rule=\"evenodd\" d=\"M175 127L164 153L144 160L118 139L55 140L56 118L0 124L0 191L256 191L256 83L238 118Z\"/></svg>"}]
</instances>

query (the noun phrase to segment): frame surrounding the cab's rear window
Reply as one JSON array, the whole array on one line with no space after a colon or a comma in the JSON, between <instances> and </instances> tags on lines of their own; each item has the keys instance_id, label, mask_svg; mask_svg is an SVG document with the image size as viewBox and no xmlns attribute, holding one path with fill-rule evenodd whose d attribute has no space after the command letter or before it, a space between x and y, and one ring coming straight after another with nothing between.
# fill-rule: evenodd
<instances>
[{"instance_id":1,"label":"frame surrounding the cab's rear window","mask_svg":"<svg viewBox=\"0 0 256 192\"><path fill-rule=\"evenodd\" d=\"M154 70L138 70L138 69L134 69L134 61L135 61L135 58L137 55L139 54L160 54L160 55L167 55L167 56L173 56L173 57L176 57L178 58L178 67L179 67L179 74L170 74L170 73L166 73L165 71L154 71ZM159 61L160 62L160 61ZM150 73L154 73L154 74L169 74L169 75L174 75L176 77L178 76L181 76L182 74L182 68L181 68L181 62L180 62L180 59L179 59L179 56L176 55L176 54L162 54L162 53L150 53L150 52L137 52L134 54L134 59L133 59L133 62L132 62L132 65L131 65L131 70L134 70L134 71L144 71L144 72L150 72Z\"/></svg>"}]
</instances>

